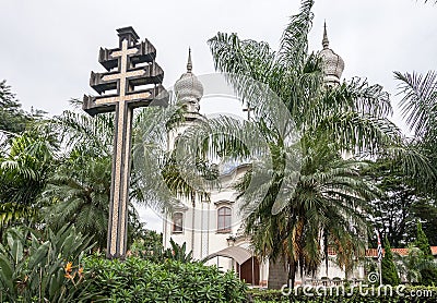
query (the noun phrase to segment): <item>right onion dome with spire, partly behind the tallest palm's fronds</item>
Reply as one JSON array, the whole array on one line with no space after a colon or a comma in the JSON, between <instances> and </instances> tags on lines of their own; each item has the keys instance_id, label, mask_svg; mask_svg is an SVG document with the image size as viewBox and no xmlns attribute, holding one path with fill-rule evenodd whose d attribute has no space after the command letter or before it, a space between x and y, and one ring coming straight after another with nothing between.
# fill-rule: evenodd
<instances>
[{"instance_id":1,"label":"right onion dome with spire, partly behind the tallest palm's fronds","mask_svg":"<svg viewBox=\"0 0 437 303\"><path fill-rule=\"evenodd\" d=\"M323 49L320 51L320 57L323 62L324 83L328 86L340 84L340 78L344 70L343 59L329 48L329 40L327 34L327 23L323 29Z\"/></svg>"}]
</instances>

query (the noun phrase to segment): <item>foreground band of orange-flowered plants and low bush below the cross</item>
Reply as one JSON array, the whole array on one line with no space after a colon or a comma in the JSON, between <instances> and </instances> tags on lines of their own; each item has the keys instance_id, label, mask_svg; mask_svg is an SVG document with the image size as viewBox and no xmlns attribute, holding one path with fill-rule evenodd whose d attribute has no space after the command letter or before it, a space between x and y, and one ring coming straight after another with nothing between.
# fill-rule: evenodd
<instances>
[{"instance_id":1,"label":"foreground band of orange-flowered plants and low bush below the cross","mask_svg":"<svg viewBox=\"0 0 437 303\"><path fill-rule=\"evenodd\" d=\"M9 229L0 244L2 302L245 302L232 271L191 263L174 245L169 258L105 259L73 227L43 233ZM177 252L175 252L175 250Z\"/></svg>"}]
</instances>

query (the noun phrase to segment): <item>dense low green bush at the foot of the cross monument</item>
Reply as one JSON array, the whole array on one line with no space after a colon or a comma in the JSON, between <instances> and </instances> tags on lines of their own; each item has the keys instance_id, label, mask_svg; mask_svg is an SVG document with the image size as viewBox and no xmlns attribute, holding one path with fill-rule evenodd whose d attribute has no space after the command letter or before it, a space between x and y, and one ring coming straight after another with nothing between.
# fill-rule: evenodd
<instances>
[{"instance_id":1,"label":"dense low green bush at the foot of the cross monument","mask_svg":"<svg viewBox=\"0 0 437 303\"><path fill-rule=\"evenodd\" d=\"M221 272L200 263L167 259L152 263L139 257L125 262L91 256L91 292L109 302L244 302L246 286L234 272Z\"/></svg>"}]
</instances>

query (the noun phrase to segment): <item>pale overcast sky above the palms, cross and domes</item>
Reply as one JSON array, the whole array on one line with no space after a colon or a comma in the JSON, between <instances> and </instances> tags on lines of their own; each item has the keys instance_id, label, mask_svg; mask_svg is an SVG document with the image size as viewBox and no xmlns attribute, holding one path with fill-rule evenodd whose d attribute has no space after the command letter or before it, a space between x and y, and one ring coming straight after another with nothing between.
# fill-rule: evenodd
<instances>
[{"instance_id":1,"label":"pale overcast sky above the palms, cross and domes","mask_svg":"<svg viewBox=\"0 0 437 303\"><path fill-rule=\"evenodd\" d=\"M217 32L264 40L277 48L298 0L115 1L0 0L0 80L25 109L59 114L68 100L94 94L90 72L103 72L99 47L118 44L116 28L133 26L157 49L164 86L186 70L214 72L206 40ZM437 5L422 0L316 0L310 49L321 49L323 21L330 47L345 61L343 77L367 77L399 99L393 71L437 70ZM393 121L403 128L399 116Z\"/></svg>"}]
</instances>

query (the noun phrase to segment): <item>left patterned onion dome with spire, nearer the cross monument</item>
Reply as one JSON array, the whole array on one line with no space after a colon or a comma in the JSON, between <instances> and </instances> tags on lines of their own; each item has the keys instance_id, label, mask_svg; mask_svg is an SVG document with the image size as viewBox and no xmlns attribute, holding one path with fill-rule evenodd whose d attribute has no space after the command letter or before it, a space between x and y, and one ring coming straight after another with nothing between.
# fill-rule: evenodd
<instances>
[{"instance_id":1,"label":"left patterned onion dome with spire, nearer the cross monument","mask_svg":"<svg viewBox=\"0 0 437 303\"><path fill-rule=\"evenodd\" d=\"M187 72L176 81L175 94L177 101L186 106L187 112L199 112L203 85L192 73L191 49L188 50Z\"/></svg>"}]
</instances>

